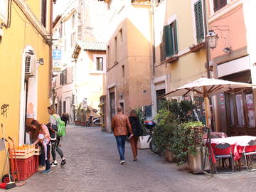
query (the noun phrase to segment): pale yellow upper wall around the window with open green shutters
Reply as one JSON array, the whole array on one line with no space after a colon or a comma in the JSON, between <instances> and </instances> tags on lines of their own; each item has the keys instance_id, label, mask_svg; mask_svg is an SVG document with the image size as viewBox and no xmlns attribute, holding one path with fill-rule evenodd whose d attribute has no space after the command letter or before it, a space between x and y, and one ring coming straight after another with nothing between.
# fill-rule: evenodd
<instances>
[{"instance_id":1,"label":"pale yellow upper wall around the window with open green shutters","mask_svg":"<svg viewBox=\"0 0 256 192\"><path fill-rule=\"evenodd\" d=\"M156 23L158 27L156 29L156 68L154 78L161 75L171 74L170 81L167 84L167 88L172 90L176 87L180 87L188 82L201 78L202 75L206 75L206 50L203 48L196 53L189 52L189 47L195 44L196 31L194 31L195 25L193 23L193 4L188 1L186 4L181 1L164 1L164 4L160 14L156 14L154 21L158 21L162 24ZM165 6L165 7L164 7ZM164 11L165 10L165 11ZM160 11L160 10L159 10ZM184 14L186 13L186 14ZM159 16L159 18L157 17ZM170 18L176 18L177 33L178 33L178 60L172 63L161 64L160 62L160 43L157 38L161 36L162 29L168 24ZM164 20L164 21L163 21Z\"/></svg>"}]
</instances>

